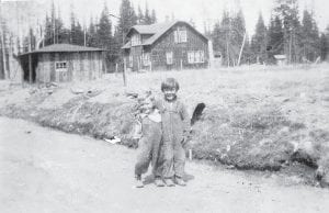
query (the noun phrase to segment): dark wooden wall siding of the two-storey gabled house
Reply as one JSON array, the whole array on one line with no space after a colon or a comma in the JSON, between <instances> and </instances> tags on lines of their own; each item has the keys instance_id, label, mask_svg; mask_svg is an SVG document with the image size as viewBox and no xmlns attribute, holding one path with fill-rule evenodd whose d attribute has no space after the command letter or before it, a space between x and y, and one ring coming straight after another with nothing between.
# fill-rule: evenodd
<instances>
[{"instance_id":1,"label":"dark wooden wall siding of the two-storey gabled house","mask_svg":"<svg viewBox=\"0 0 329 213\"><path fill-rule=\"evenodd\" d=\"M174 42L174 31L180 29L186 30L188 41L185 43ZM137 32L134 31L132 36ZM151 35L141 35L141 41L145 42ZM203 51L204 63L189 64L188 53ZM172 52L172 65L167 65L166 53ZM155 44L149 46L132 46L125 49L125 60L127 68L129 68L129 56L133 56L132 70L140 69L181 69L181 68L206 68L208 66L208 41L201 36L195 30L188 24L179 23L166 32ZM144 66L143 54L150 55L150 65Z\"/></svg>"}]
</instances>

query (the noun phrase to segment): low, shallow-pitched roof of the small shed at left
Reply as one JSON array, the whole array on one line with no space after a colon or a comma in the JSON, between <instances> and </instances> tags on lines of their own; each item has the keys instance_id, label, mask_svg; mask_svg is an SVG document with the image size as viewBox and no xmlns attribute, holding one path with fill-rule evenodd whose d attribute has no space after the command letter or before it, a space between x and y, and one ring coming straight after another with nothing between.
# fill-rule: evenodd
<instances>
[{"instance_id":1,"label":"low, shallow-pitched roof of the small shed at left","mask_svg":"<svg viewBox=\"0 0 329 213\"><path fill-rule=\"evenodd\" d=\"M53 44L21 55L36 54L36 53L79 53L79 52L103 52L103 51L105 49L88 47L88 46L79 46L72 44Z\"/></svg>"}]
</instances>

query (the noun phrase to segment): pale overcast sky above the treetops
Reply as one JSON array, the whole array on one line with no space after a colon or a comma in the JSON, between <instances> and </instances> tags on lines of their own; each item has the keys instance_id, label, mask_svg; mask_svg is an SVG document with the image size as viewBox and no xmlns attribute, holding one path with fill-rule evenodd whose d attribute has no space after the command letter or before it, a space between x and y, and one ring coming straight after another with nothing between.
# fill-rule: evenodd
<instances>
[{"instance_id":1,"label":"pale overcast sky above the treetops","mask_svg":"<svg viewBox=\"0 0 329 213\"><path fill-rule=\"evenodd\" d=\"M52 0L34 0L45 3ZM146 0L131 0L137 11L138 4L144 10ZM223 10L238 10L238 4L241 5L246 25L249 34L254 31L254 25L260 12L262 12L265 23L268 24L273 2L275 0L147 0L149 9L155 9L158 21L164 21L166 16L174 15L178 20L190 21L196 23L197 29L203 32L204 22L213 24L220 19ZM118 14L121 0L54 0L56 7L60 7L61 16L68 22L70 4L75 7L75 11L81 23L89 23L90 15L97 18L103 8L104 2L113 14ZM304 8L314 8L316 20L321 31L329 24L329 0L299 0L300 12ZM49 11L49 9L47 9ZM47 11L45 10L45 11ZM302 14L302 13L300 13ZM112 20L116 20L113 18Z\"/></svg>"}]
</instances>

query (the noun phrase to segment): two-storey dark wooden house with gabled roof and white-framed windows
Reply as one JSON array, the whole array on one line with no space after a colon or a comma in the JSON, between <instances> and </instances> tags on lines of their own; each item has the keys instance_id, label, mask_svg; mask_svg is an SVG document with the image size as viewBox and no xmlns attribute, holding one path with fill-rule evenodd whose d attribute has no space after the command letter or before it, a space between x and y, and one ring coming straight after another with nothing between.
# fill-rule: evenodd
<instances>
[{"instance_id":1,"label":"two-storey dark wooden house with gabled roof and white-framed windows","mask_svg":"<svg viewBox=\"0 0 329 213\"><path fill-rule=\"evenodd\" d=\"M125 65L132 70L206 68L208 40L186 22L135 25L127 33Z\"/></svg>"}]
</instances>

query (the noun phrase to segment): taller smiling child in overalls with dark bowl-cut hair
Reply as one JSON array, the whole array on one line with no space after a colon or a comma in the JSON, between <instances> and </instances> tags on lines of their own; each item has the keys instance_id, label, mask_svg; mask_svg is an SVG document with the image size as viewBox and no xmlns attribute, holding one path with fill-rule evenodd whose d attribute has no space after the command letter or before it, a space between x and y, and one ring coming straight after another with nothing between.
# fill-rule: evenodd
<instances>
[{"instance_id":1,"label":"taller smiling child in overalls with dark bowl-cut hair","mask_svg":"<svg viewBox=\"0 0 329 213\"><path fill-rule=\"evenodd\" d=\"M164 183L173 187L174 182L185 186L185 144L190 134L190 116L184 104L178 100L179 83L174 78L167 78L161 83L163 99L156 101L162 120L162 147ZM174 181L174 182L173 182Z\"/></svg>"}]
</instances>

